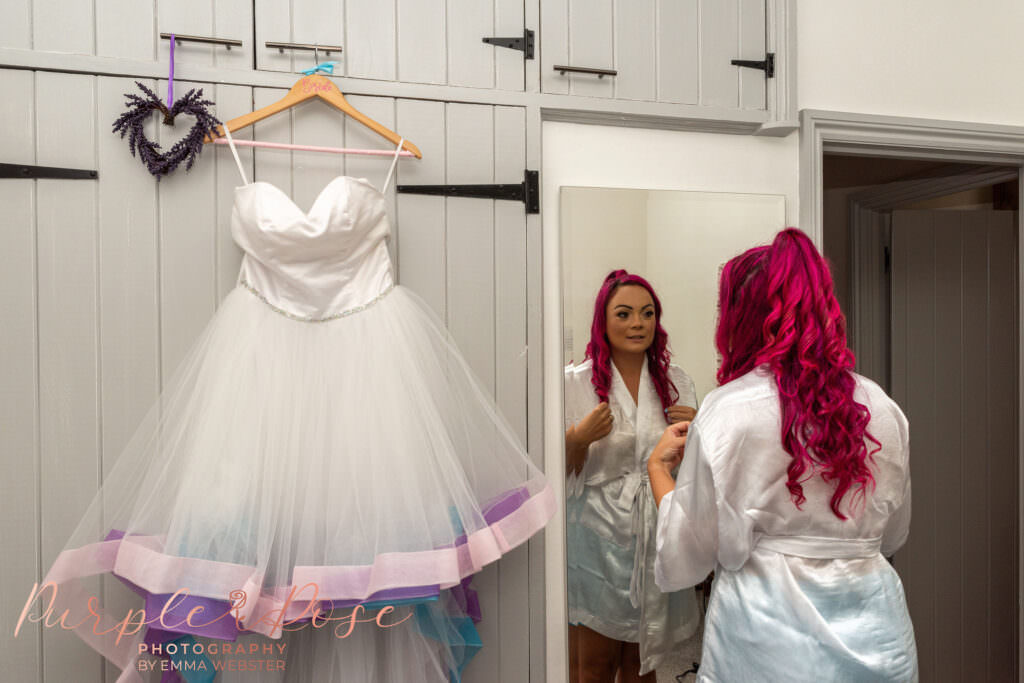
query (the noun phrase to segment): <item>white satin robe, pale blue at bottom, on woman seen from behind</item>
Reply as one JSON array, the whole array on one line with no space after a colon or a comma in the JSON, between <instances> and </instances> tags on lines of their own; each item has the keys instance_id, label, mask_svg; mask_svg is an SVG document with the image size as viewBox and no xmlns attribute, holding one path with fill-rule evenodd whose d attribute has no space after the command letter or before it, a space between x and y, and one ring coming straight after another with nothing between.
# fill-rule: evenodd
<instances>
[{"instance_id":1,"label":"white satin robe, pale blue at bottom, on woman seen from behind","mask_svg":"<svg viewBox=\"0 0 1024 683\"><path fill-rule=\"evenodd\" d=\"M697 680L918 680L903 586L884 557L910 523L906 418L877 384L857 382L882 450L873 493L861 506L844 498L846 521L820 476L803 482L802 509L794 505L767 370L709 393L690 425L676 487L658 508L654 572L672 591L715 569Z\"/></svg>"}]
</instances>

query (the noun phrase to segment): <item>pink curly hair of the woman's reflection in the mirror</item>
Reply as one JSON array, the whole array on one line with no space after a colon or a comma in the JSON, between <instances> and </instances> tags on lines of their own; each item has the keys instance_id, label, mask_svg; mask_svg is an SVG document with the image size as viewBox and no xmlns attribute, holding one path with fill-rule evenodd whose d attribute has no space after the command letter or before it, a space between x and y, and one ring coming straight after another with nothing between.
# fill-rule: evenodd
<instances>
[{"instance_id":1,"label":"pink curly hair of the woman's reflection in the mirror","mask_svg":"<svg viewBox=\"0 0 1024 683\"><path fill-rule=\"evenodd\" d=\"M594 322L590 326L590 342L584 355L585 359L591 358L594 361L590 381L594 385L598 399L607 401L608 388L611 386L611 347L608 345L607 335L608 301L620 287L626 285L644 288L654 302L654 341L647 347L647 370L657 390L657 396L662 399L662 408L667 409L679 400L679 390L669 377L672 353L669 351L669 333L662 327L662 302L654 294L654 288L650 283L626 270L609 272L597 293L597 299L594 300ZM665 419L666 422L669 421L668 416Z\"/></svg>"}]
</instances>

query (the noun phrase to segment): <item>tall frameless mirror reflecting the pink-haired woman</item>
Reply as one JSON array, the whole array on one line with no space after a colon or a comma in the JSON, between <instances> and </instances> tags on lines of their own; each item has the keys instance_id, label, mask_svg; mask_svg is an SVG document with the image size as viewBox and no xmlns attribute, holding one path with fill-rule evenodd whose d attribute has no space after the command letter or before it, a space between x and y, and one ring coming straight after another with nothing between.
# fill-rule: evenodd
<instances>
[{"instance_id":1,"label":"tall frameless mirror reflecting the pink-haired woman","mask_svg":"<svg viewBox=\"0 0 1024 683\"><path fill-rule=\"evenodd\" d=\"M569 677L675 682L699 661L708 586L655 585L645 464L715 387L719 268L784 227L784 197L563 187L560 200Z\"/></svg>"}]
</instances>

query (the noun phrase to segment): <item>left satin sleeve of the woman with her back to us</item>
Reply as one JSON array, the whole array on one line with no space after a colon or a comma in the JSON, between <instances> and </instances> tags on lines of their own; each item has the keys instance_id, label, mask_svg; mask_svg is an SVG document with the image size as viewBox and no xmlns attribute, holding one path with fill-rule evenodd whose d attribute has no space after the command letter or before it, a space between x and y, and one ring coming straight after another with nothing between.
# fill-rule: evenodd
<instances>
[{"instance_id":1,"label":"left satin sleeve of the woman with her back to us","mask_svg":"<svg viewBox=\"0 0 1024 683\"><path fill-rule=\"evenodd\" d=\"M676 487L657 510L654 582L665 592L702 582L718 556L718 507L697 422L690 425Z\"/></svg>"}]
</instances>

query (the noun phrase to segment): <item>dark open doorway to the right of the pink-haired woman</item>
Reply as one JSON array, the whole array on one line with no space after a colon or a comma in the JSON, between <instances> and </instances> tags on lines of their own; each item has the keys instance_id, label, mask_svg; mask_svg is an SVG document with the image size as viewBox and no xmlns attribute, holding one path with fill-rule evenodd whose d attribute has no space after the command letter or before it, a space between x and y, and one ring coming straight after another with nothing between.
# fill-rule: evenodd
<instances>
[{"instance_id":1,"label":"dark open doorway to the right of the pink-haired woman","mask_svg":"<svg viewBox=\"0 0 1024 683\"><path fill-rule=\"evenodd\" d=\"M857 371L910 423L894 557L922 680L1017 680L1020 167L839 151L820 244Z\"/></svg>"}]
</instances>

